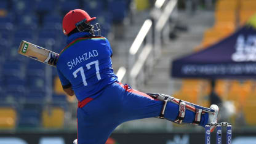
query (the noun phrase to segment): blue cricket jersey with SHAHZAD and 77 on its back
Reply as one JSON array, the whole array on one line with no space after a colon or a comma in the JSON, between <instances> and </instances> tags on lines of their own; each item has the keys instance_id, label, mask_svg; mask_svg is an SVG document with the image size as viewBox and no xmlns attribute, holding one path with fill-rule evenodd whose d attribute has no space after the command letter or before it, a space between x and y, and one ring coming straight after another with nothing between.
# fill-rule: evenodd
<instances>
[{"instance_id":1,"label":"blue cricket jersey with SHAHZAD and 77 on its back","mask_svg":"<svg viewBox=\"0 0 256 144\"><path fill-rule=\"evenodd\" d=\"M63 88L72 87L79 101L95 98L104 87L118 81L113 72L108 39L87 32L68 37L57 62Z\"/></svg>"}]
</instances>

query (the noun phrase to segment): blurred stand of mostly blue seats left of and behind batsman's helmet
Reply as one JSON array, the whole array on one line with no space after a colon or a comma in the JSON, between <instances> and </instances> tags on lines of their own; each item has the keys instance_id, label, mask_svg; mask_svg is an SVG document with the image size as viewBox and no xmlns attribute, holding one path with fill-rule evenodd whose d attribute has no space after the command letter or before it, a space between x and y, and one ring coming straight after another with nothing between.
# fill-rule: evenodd
<instances>
[{"instance_id":1,"label":"blurred stand of mostly blue seats left of and behind batsman's helmet","mask_svg":"<svg viewBox=\"0 0 256 144\"><path fill-rule=\"evenodd\" d=\"M53 115L44 110L46 89L49 89L46 65L17 55L20 41L29 41L59 53L66 45L66 36L62 33L62 18L71 9L85 9L90 15L97 17L96 22L101 25L102 36L108 36L113 23L122 23L127 17L129 3L129 0L0 1L0 106L9 104L19 106L20 109L16 112L14 108L0 108L0 129L13 129L16 125L62 128L68 103L76 102L74 98L66 97L57 72L52 69ZM2 114L4 111L6 114ZM6 122L6 119L11 120Z\"/></svg>"}]
</instances>

